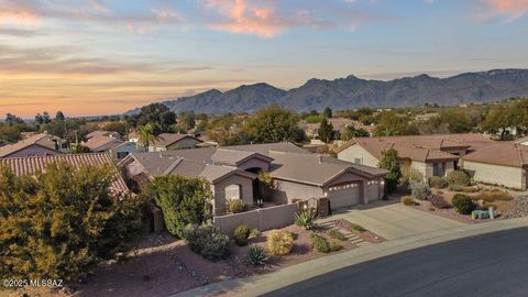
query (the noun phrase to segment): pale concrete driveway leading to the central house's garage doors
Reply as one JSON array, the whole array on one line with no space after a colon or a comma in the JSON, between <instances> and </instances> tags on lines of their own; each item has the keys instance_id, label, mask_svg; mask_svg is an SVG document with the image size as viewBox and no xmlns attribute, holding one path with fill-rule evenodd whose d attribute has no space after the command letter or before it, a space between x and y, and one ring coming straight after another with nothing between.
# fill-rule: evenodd
<instances>
[{"instance_id":1,"label":"pale concrete driveway leading to the central house's garage doors","mask_svg":"<svg viewBox=\"0 0 528 297\"><path fill-rule=\"evenodd\" d=\"M426 232L464 226L395 200L375 201L351 209L341 209L326 220L345 219L387 239L402 239Z\"/></svg>"}]
</instances>

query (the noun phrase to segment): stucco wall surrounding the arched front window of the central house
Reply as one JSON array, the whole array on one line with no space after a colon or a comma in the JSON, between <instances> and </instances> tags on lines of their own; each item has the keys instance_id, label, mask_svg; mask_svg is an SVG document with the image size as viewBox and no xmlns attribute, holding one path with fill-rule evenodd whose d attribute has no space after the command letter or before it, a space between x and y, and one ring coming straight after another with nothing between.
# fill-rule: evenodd
<instances>
[{"instance_id":1,"label":"stucco wall surrounding the arched front window of the central house","mask_svg":"<svg viewBox=\"0 0 528 297\"><path fill-rule=\"evenodd\" d=\"M241 186L240 194L241 199L248 206L253 206L253 179L241 176L241 175L231 175L213 185L213 195L215 195L215 204L213 209L216 215L226 213L227 201L226 201L226 187L230 185L239 185Z\"/></svg>"}]
</instances>

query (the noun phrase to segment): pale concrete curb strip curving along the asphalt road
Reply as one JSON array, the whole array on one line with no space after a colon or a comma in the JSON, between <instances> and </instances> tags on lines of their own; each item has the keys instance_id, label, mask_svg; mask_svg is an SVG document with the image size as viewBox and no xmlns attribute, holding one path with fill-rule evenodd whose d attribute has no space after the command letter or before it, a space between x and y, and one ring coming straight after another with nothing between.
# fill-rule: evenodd
<instances>
[{"instance_id":1,"label":"pale concrete curb strip curving along the asphalt road","mask_svg":"<svg viewBox=\"0 0 528 297\"><path fill-rule=\"evenodd\" d=\"M265 275L230 279L178 293L173 297L213 296L257 296L308 278L337 271L362 262L392 254L458 240L462 238L528 227L528 218L490 221L477 224L442 229L403 239L363 246L352 251L319 257L278 270Z\"/></svg>"}]
</instances>

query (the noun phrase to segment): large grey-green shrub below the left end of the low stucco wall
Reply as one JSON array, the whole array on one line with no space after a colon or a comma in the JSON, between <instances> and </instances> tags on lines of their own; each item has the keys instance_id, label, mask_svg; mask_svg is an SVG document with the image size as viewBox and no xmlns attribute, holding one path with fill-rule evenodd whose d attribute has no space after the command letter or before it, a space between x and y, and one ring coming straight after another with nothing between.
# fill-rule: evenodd
<instances>
[{"instance_id":1,"label":"large grey-green shrub below the left end of the low stucco wall","mask_svg":"<svg viewBox=\"0 0 528 297\"><path fill-rule=\"evenodd\" d=\"M212 224L189 224L184 228L183 238L193 252L210 261L226 258L230 253L229 237Z\"/></svg>"}]
</instances>

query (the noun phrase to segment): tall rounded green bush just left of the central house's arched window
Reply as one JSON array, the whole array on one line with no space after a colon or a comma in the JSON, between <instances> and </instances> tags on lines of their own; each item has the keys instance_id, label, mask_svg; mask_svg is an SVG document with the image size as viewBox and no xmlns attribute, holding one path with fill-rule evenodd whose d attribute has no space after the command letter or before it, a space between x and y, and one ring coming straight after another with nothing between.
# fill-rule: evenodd
<instances>
[{"instance_id":1,"label":"tall rounded green bush just left of the central house's arched window","mask_svg":"<svg viewBox=\"0 0 528 297\"><path fill-rule=\"evenodd\" d=\"M202 224L212 217L209 183L201 178L166 175L154 178L146 194L162 208L167 231L182 238L187 224Z\"/></svg>"}]
</instances>

